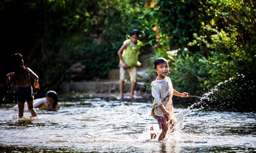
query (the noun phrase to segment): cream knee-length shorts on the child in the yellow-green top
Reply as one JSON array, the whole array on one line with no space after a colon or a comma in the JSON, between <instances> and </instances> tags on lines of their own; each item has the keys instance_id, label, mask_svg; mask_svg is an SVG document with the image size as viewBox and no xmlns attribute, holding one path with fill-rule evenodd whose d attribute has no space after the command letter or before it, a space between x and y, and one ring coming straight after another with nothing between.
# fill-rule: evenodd
<instances>
[{"instance_id":1,"label":"cream knee-length shorts on the child in the yellow-green top","mask_svg":"<svg viewBox=\"0 0 256 153\"><path fill-rule=\"evenodd\" d=\"M129 75L130 75L130 80L131 82L136 82L137 80L137 70L136 67L129 67L129 68L123 68L122 66L120 66L120 81L124 81L125 78L125 74L128 71Z\"/></svg>"}]
</instances>

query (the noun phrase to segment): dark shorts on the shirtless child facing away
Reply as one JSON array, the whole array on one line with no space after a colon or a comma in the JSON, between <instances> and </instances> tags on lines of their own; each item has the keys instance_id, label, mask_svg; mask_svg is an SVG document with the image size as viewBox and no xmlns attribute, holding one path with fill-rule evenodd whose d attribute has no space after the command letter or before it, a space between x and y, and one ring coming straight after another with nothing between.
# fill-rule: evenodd
<instances>
[{"instance_id":1,"label":"dark shorts on the shirtless child facing away","mask_svg":"<svg viewBox=\"0 0 256 153\"><path fill-rule=\"evenodd\" d=\"M18 87L18 102L32 101L34 99L32 86Z\"/></svg>"}]
</instances>

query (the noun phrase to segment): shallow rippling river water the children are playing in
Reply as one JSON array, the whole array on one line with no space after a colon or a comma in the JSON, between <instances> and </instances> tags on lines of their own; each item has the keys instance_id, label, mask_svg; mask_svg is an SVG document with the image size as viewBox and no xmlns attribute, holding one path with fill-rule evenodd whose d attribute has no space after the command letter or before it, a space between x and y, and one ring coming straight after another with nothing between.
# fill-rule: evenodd
<instances>
[{"instance_id":1,"label":"shallow rippling river water the children are playing in","mask_svg":"<svg viewBox=\"0 0 256 153\"><path fill-rule=\"evenodd\" d=\"M22 119L13 103L1 104L1 152L256 152L255 111L202 109L207 102L188 108L174 101L176 131L158 142L161 131L148 99L60 103L56 112L36 109L38 117L25 112Z\"/></svg>"}]
</instances>

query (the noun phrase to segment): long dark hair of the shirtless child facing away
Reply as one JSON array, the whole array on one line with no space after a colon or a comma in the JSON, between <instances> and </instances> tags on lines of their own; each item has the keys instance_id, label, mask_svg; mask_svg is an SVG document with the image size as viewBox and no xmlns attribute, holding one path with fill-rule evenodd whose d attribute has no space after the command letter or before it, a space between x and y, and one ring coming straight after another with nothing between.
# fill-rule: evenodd
<instances>
[{"instance_id":1,"label":"long dark hair of the shirtless child facing away","mask_svg":"<svg viewBox=\"0 0 256 153\"><path fill-rule=\"evenodd\" d=\"M24 66L23 57L20 53L15 53L11 56L10 65L12 72L15 72L15 79L19 79L19 75L23 75L23 78L26 79L29 75L29 71L26 66Z\"/></svg>"}]
</instances>

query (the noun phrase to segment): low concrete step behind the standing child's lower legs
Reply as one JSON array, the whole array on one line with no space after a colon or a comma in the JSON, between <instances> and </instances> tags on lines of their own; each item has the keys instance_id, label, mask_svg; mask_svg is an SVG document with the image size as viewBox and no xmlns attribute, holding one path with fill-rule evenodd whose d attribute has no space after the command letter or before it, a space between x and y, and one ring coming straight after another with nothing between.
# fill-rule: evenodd
<instances>
[{"instance_id":1,"label":"low concrete step behind the standing child's lower legs","mask_svg":"<svg viewBox=\"0 0 256 153\"><path fill-rule=\"evenodd\" d=\"M125 82L124 92L129 92L131 82ZM136 90L145 91L146 84L144 82L137 82ZM76 92L76 93L115 93L119 92L119 81L77 81L65 82L61 85L62 92Z\"/></svg>"}]
</instances>

